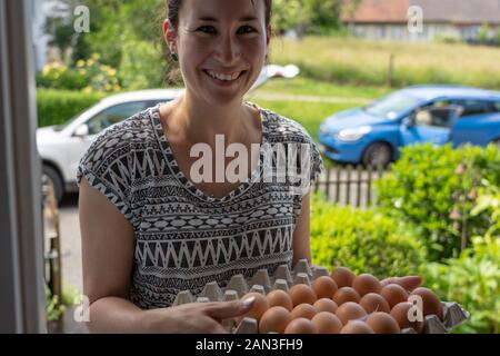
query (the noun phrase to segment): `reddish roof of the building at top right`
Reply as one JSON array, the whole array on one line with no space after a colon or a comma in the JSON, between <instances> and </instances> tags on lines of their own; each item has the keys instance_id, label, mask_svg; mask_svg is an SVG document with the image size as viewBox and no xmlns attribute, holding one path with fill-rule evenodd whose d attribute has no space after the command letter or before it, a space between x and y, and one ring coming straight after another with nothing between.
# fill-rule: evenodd
<instances>
[{"instance_id":1,"label":"reddish roof of the building at top right","mask_svg":"<svg viewBox=\"0 0 500 356\"><path fill-rule=\"evenodd\" d=\"M406 23L412 6L422 8L427 23L500 24L500 0L361 0L354 22ZM350 16L344 12L342 19Z\"/></svg>"}]
</instances>

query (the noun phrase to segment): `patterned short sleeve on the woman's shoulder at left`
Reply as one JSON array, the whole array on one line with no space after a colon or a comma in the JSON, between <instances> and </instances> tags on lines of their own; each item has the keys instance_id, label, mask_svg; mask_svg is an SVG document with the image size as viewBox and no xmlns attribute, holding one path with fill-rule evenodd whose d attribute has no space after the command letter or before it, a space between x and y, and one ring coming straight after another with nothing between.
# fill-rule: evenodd
<instances>
[{"instance_id":1,"label":"patterned short sleeve on the woman's shoulder at left","mask_svg":"<svg viewBox=\"0 0 500 356\"><path fill-rule=\"evenodd\" d=\"M136 218L129 201L131 190L130 145L119 127L102 132L80 160L77 182L84 177L89 185L104 195L132 224Z\"/></svg>"}]
</instances>

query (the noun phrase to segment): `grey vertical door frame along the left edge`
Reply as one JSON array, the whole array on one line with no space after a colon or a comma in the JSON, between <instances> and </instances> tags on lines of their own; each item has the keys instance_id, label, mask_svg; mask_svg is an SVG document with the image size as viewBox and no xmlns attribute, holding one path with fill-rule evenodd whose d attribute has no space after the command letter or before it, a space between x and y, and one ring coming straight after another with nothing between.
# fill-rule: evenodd
<instances>
[{"instance_id":1,"label":"grey vertical door frame along the left edge","mask_svg":"<svg viewBox=\"0 0 500 356\"><path fill-rule=\"evenodd\" d=\"M0 333L44 333L32 0L0 0Z\"/></svg>"}]
</instances>

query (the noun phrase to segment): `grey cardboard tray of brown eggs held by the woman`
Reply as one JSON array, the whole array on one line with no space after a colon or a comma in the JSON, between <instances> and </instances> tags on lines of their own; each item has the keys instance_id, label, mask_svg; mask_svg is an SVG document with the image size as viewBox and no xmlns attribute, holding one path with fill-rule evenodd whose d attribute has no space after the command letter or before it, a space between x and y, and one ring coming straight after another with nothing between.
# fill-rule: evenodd
<instances>
[{"instance_id":1,"label":"grey cardboard tray of brown eggs held by the woman","mask_svg":"<svg viewBox=\"0 0 500 356\"><path fill-rule=\"evenodd\" d=\"M182 291L173 306L250 296L256 300L246 315L222 322L228 332L447 334L470 317L459 304L441 301L429 288L382 286L372 275L357 276L347 267L330 273L326 267L310 266L308 260L300 260L292 270L279 266L273 276L267 269L252 278L236 275L226 288L209 283L198 296Z\"/></svg>"}]
</instances>

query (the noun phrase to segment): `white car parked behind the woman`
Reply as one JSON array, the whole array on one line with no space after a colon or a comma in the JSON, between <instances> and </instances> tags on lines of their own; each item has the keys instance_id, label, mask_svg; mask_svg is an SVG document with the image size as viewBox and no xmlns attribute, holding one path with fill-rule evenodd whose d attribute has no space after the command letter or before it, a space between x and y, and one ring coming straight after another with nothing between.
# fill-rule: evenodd
<instances>
[{"instance_id":1,"label":"white car parked behind the woman","mask_svg":"<svg viewBox=\"0 0 500 356\"><path fill-rule=\"evenodd\" d=\"M252 89L271 78L293 78L299 69L293 66L269 65L263 68ZM52 185L56 198L77 191L77 169L83 154L96 136L147 108L176 99L183 89L152 89L114 95L102 99L67 123L37 130L38 151L42 159L43 178Z\"/></svg>"}]
</instances>

